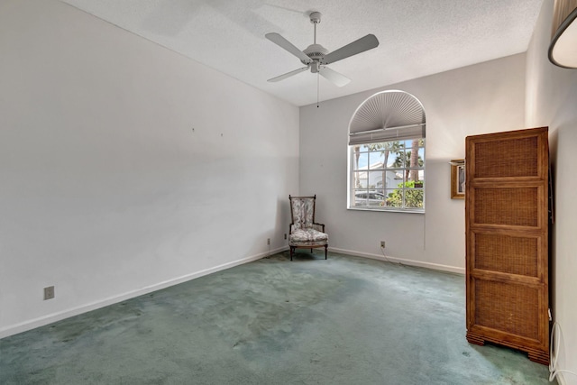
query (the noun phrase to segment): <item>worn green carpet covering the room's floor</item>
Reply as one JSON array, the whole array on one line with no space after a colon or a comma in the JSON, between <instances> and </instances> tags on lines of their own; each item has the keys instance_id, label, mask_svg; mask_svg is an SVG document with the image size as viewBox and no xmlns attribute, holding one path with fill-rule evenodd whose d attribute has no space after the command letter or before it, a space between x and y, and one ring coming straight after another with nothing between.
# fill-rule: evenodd
<instances>
[{"instance_id":1,"label":"worn green carpet covering the room's floor","mask_svg":"<svg viewBox=\"0 0 577 385\"><path fill-rule=\"evenodd\" d=\"M463 276L284 252L4 338L0 383L549 383L464 314Z\"/></svg>"}]
</instances>

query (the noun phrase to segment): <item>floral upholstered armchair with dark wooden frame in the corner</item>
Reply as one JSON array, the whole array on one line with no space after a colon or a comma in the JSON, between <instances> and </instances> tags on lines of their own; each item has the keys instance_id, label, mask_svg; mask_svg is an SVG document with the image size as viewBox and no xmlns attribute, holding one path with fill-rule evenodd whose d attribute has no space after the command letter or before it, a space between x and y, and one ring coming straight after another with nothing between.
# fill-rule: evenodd
<instances>
[{"instance_id":1,"label":"floral upholstered armchair with dark wooden frame in the corner","mask_svg":"<svg viewBox=\"0 0 577 385\"><path fill-rule=\"evenodd\" d=\"M290 215L292 223L289 227L289 247L290 261L297 248L310 249L324 247L325 259L328 247L328 234L325 233L325 225L315 223L315 202L314 197L291 197Z\"/></svg>"}]
</instances>

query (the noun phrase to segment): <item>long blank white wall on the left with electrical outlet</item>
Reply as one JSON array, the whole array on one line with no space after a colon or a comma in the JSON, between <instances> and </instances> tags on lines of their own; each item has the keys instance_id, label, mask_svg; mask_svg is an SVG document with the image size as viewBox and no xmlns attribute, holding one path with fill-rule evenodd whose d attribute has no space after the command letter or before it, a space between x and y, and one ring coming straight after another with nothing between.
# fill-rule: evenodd
<instances>
[{"instance_id":1,"label":"long blank white wall on the left with electrical outlet","mask_svg":"<svg viewBox=\"0 0 577 385\"><path fill-rule=\"evenodd\" d=\"M0 52L0 337L286 247L297 107L55 0Z\"/></svg>"}]
</instances>

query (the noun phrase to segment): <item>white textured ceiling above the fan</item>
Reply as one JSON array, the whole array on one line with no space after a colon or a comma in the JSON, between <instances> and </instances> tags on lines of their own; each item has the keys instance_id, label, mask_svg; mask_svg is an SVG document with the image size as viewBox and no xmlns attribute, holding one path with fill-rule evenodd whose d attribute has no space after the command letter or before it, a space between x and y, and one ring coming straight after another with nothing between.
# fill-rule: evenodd
<instances>
[{"instance_id":1,"label":"white textured ceiling above the fan","mask_svg":"<svg viewBox=\"0 0 577 385\"><path fill-rule=\"evenodd\" d=\"M61 0L175 50L293 105L316 103L316 74L268 78L302 67L264 38L279 32L300 50L336 50L367 33L379 47L330 68L351 82L320 78L320 100L493 60L527 50L548 0Z\"/></svg>"}]
</instances>

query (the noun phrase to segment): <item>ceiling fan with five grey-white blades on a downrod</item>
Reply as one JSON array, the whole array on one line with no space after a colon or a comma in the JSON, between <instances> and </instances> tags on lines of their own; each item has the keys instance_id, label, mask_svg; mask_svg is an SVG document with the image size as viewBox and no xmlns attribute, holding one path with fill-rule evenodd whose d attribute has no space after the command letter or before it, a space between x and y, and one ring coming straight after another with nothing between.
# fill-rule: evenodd
<instances>
[{"instance_id":1,"label":"ceiling fan with five grey-white blades on a downrod","mask_svg":"<svg viewBox=\"0 0 577 385\"><path fill-rule=\"evenodd\" d=\"M280 36L279 33L271 32L264 35L264 37L277 44L280 48L288 50L290 53L300 59L303 64L307 65L307 67L295 69L276 78L270 78L268 81L276 82L310 69L312 73L319 74L320 76L334 83L335 86L343 87L349 83L351 79L341 75L333 69L329 69L326 67L326 65L334 63L338 60L346 59L350 56L356 55L357 53L364 52L365 50L371 50L379 45L379 41L375 35L368 34L359 40L353 41L352 43L349 43L339 48L338 50L334 50L329 53L325 47L320 44L316 44L316 24L321 23L321 13L312 12L309 17L310 23L315 25L315 40L313 44L309 45L305 50L298 50L297 47L295 47L287 39Z\"/></svg>"}]
</instances>

